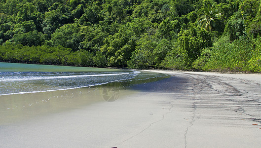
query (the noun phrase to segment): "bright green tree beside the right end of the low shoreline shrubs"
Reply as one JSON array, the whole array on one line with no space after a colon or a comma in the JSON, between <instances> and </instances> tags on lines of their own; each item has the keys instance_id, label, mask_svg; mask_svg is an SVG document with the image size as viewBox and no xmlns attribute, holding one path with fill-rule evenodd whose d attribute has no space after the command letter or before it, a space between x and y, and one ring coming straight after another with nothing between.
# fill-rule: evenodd
<instances>
[{"instance_id":1,"label":"bright green tree beside the right end of the low shoreline shrubs","mask_svg":"<svg viewBox=\"0 0 261 148\"><path fill-rule=\"evenodd\" d=\"M101 51L106 52L109 66L127 66L127 61L135 50L137 37L145 33L151 23L144 18L122 25L119 32L105 38Z\"/></svg>"}]
</instances>

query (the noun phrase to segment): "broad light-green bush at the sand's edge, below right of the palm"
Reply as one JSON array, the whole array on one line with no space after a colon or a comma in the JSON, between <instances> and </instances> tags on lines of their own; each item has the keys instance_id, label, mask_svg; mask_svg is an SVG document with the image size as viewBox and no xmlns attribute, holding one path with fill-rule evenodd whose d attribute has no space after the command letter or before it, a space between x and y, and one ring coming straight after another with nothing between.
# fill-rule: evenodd
<instances>
[{"instance_id":1,"label":"broad light-green bush at the sand's edge, below right of the palm","mask_svg":"<svg viewBox=\"0 0 261 148\"><path fill-rule=\"evenodd\" d=\"M229 37L221 37L211 51L211 57L204 69L218 71L250 71L248 61L253 47L247 37L229 42Z\"/></svg>"}]
</instances>

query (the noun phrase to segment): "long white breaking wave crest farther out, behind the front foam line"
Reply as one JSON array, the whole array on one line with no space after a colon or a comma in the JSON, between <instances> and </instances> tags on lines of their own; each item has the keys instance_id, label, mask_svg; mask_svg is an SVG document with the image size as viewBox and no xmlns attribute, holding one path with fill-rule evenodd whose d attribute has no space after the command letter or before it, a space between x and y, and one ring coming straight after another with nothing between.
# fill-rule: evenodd
<instances>
[{"instance_id":1,"label":"long white breaking wave crest farther out, behind the front foam line","mask_svg":"<svg viewBox=\"0 0 261 148\"><path fill-rule=\"evenodd\" d=\"M23 80L41 80L41 79L56 79L56 78L75 78L75 77L93 77L93 76L114 76L114 75L124 75L130 73L120 73L120 74L82 74L82 75L61 75L61 76L14 76L0 79L0 82L6 81L23 81Z\"/></svg>"}]
</instances>

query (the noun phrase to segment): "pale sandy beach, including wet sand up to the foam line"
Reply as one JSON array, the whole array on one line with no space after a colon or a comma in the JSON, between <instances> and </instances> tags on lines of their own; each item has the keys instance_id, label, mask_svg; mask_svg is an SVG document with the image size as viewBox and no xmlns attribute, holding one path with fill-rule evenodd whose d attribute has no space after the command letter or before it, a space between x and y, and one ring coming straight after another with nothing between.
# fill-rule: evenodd
<instances>
[{"instance_id":1,"label":"pale sandy beach, including wet sand up to the foam line","mask_svg":"<svg viewBox=\"0 0 261 148\"><path fill-rule=\"evenodd\" d=\"M261 74L0 96L0 148L260 148Z\"/></svg>"}]
</instances>

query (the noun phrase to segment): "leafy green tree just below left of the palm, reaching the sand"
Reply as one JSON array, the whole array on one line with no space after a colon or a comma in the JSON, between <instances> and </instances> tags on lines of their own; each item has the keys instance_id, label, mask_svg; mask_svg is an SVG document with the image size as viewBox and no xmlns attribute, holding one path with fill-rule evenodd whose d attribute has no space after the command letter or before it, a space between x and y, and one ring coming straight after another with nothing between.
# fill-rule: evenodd
<instances>
[{"instance_id":1,"label":"leafy green tree just below left of the palm, reaching the sand","mask_svg":"<svg viewBox=\"0 0 261 148\"><path fill-rule=\"evenodd\" d=\"M211 36L210 32L200 27L191 27L189 30L180 32L175 49L167 54L163 64L170 69L180 69L180 67L184 67L183 70L191 69L201 49L212 46ZM171 62L171 60L174 61Z\"/></svg>"}]
</instances>

